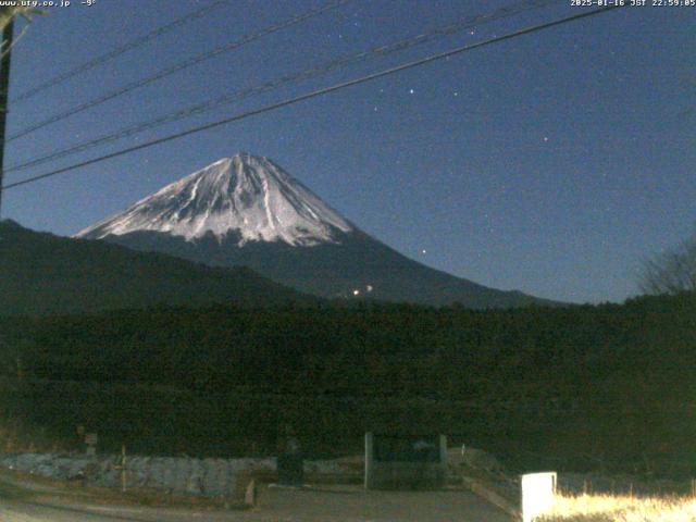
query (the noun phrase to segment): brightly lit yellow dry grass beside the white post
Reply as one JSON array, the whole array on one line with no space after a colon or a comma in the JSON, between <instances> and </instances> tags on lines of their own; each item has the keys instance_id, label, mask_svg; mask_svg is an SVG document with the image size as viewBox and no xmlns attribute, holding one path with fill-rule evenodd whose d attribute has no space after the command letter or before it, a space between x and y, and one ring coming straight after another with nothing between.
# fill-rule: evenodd
<instances>
[{"instance_id":1,"label":"brightly lit yellow dry grass beside the white post","mask_svg":"<svg viewBox=\"0 0 696 522\"><path fill-rule=\"evenodd\" d=\"M539 522L694 522L696 498L558 495Z\"/></svg>"}]
</instances>

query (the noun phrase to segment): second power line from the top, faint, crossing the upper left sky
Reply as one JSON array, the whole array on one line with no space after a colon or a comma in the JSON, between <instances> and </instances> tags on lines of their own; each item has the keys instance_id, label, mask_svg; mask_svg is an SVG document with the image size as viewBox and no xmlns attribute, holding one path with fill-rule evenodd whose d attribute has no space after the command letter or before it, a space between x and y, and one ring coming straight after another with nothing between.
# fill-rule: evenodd
<instances>
[{"instance_id":1,"label":"second power line from the top, faint, crossing the upper left sky","mask_svg":"<svg viewBox=\"0 0 696 522\"><path fill-rule=\"evenodd\" d=\"M266 35L273 34L273 33L277 33L278 30L285 29L287 27L290 27L293 25L297 25L301 22L304 22L309 18L312 18L314 16L319 16L320 14L323 14L326 11L339 8L348 2L351 2L352 0L337 0L334 2L331 2L322 8L319 9L314 9L311 11L308 11L303 14L300 14L298 16L294 16L290 20L287 20L285 22L282 22L279 24L274 24L272 26L265 27L261 30L258 30L256 33L252 33L250 35L246 35L244 37L241 37L241 39L239 40L235 40L232 41L229 44L226 44L224 46L220 46L216 47L215 49L211 50L211 51L207 51L203 52L201 54L198 54L196 57L189 58L187 60L184 60L183 62L176 63L170 67L163 69L160 72L156 73L152 76L148 76L146 78L142 79L138 79L136 82L132 82L116 90L113 90L107 95L102 95L99 98L95 98L94 100L87 101L85 103L80 103L79 105L76 105L72 109L69 109L64 112L61 112L59 114L55 114L47 120L44 120L42 122L36 123L34 125L29 125L28 127L23 128L22 130L14 133L13 135L9 136L5 139L5 142L9 141L13 141L17 138L21 138L23 136L26 136L27 134L32 134L36 130L38 130L39 128L44 128L48 125L51 125L53 123L60 122L62 120L65 120L66 117L73 116L79 112L86 111L87 109L91 109L94 107L100 105L101 103L104 103L105 101L112 100L114 98L117 98L120 96L123 96L127 92L130 92L135 89L138 89L140 87L145 87L147 85L150 85L154 82L158 82L162 78L165 78L167 76L171 76L174 73L177 73L179 71L183 71L185 69L188 69L192 65L197 65L206 60L210 60L211 58L214 58L223 52L227 52L234 49L238 49L239 47L245 46L246 44L249 44L251 41L258 40Z\"/></svg>"}]
</instances>

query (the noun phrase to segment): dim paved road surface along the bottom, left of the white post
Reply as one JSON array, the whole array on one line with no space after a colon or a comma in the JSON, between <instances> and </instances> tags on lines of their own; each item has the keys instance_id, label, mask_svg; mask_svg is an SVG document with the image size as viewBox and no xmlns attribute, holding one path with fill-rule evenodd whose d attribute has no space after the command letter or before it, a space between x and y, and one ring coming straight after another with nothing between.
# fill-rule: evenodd
<instances>
[{"instance_id":1,"label":"dim paved road surface along the bottom, left of the white post","mask_svg":"<svg viewBox=\"0 0 696 522\"><path fill-rule=\"evenodd\" d=\"M467 492L364 492L359 487L263 488L248 511L177 511L148 508L55 507L32 499L0 499L2 522L510 522ZM97 509L98 511L95 511Z\"/></svg>"}]
</instances>

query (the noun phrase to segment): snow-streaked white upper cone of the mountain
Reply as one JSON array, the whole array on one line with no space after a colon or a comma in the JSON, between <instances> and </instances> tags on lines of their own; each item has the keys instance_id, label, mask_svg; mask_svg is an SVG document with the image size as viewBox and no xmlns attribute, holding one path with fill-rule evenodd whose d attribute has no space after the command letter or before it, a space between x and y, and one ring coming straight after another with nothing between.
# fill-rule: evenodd
<instances>
[{"instance_id":1,"label":"snow-streaked white upper cone of the mountain","mask_svg":"<svg viewBox=\"0 0 696 522\"><path fill-rule=\"evenodd\" d=\"M187 241L237 232L248 241L293 246L335 243L353 226L309 188L266 158L240 152L223 158L124 212L76 234L100 239L133 232L160 232Z\"/></svg>"}]
</instances>

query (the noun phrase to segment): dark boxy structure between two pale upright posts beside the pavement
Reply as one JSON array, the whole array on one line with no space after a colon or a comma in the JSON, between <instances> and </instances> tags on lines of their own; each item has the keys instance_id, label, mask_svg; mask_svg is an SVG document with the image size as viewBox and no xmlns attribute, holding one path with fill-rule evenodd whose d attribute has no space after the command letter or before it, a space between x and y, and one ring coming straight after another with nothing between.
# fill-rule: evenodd
<instances>
[{"instance_id":1,"label":"dark boxy structure between two pale upright posts beside the pavement","mask_svg":"<svg viewBox=\"0 0 696 522\"><path fill-rule=\"evenodd\" d=\"M438 489L447 481L447 437L365 434L365 489Z\"/></svg>"}]
</instances>

